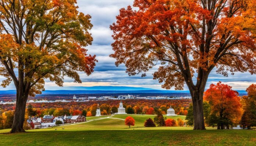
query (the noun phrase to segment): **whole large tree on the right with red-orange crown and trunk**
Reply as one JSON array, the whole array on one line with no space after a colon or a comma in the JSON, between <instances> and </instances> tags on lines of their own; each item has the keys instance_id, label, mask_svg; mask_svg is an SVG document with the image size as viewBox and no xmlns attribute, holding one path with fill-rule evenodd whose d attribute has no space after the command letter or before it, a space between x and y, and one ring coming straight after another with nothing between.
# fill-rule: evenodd
<instances>
[{"instance_id":1,"label":"whole large tree on the right with red-orange crown and trunk","mask_svg":"<svg viewBox=\"0 0 256 146\"><path fill-rule=\"evenodd\" d=\"M114 54L129 75L159 66L162 87L187 85L194 129L205 129L203 92L211 70L256 73L254 0L135 0L121 8L113 30ZM196 80L193 80L196 79Z\"/></svg>"}]
</instances>

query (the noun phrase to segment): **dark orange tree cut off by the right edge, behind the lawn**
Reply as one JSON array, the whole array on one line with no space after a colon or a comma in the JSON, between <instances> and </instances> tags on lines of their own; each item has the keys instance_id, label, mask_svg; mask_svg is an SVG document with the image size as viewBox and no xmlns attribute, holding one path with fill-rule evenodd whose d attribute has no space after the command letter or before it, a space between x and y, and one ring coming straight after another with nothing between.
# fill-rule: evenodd
<instances>
[{"instance_id":1,"label":"dark orange tree cut off by the right edge, behind the lawn","mask_svg":"<svg viewBox=\"0 0 256 146\"><path fill-rule=\"evenodd\" d=\"M246 89L248 95L243 97L244 113L240 124L243 125L243 128L256 126L256 84L250 85Z\"/></svg>"}]
</instances>

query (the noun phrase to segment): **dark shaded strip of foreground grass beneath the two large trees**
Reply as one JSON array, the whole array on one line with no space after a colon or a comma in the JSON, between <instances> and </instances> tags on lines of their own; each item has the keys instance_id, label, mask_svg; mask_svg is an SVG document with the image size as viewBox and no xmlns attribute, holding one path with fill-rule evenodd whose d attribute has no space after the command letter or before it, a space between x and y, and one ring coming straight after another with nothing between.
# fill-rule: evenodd
<instances>
[{"instance_id":1,"label":"dark shaded strip of foreground grass beneath the two large trees","mask_svg":"<svg viewBox=\"0 0 256 146\"><path fill-rule=\"evenodd\" d=\"M255 145L255 131L248 130L81 130L29 131L22 134L0 134L3 146L28 145Z\"/></svg>"}]
</instances>

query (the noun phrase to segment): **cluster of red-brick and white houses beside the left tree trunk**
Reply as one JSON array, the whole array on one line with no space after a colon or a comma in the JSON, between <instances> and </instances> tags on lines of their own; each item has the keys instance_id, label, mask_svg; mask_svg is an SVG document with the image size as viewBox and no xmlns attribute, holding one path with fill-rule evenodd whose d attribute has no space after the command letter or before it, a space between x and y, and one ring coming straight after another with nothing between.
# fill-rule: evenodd
<instances>
[{"instance_id":1,"label":"cluster of red-brick and white houses beside the left tree trunk","mask_svg":"<svg viewBox=\"0 0 256 146\"><path fill-rule=\"evenodd\" d=\"M40 117L29 117L27 122L31 125L32 129L36 128L48 128L48 127L54 127L56 125L57 121L61 121L59 123L65 124L65 123L79 123L79 122L85 122L86 117L77 115L77 116L56 116L53 115L45 115L43 118Z\"/></svg>"}]
</instances>

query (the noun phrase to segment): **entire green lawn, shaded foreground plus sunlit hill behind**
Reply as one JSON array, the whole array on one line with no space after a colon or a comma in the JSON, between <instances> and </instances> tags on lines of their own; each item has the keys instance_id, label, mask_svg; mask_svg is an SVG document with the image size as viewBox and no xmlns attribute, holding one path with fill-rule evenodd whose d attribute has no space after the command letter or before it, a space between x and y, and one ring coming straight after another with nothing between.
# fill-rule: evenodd
<instances>
[{"instance_id":1,"label":"entire green lawn, shaded foreground plus sunlit hill behind","mask_svg":"<svg viewBox=\"0 0 256 146\"><path fill-rule=\"evenodd\" d=\"M127 116L135 119L135 126L124 125ZM134 146L178 146L178 145L234 145L254 146L256 131L217 130L193 131L192 127L143 127L153 115L115 115L107 118L88 117L88 122L64 125L47 129L28 130L19 134L0 134L0 145L70 146L70 145L134 145ZM168 118L177 119L173 116ZM64 129L63 129L64 128ZM10 129L0 130L0 133Z\"/></svg>"}]
</instances>

